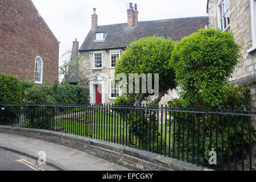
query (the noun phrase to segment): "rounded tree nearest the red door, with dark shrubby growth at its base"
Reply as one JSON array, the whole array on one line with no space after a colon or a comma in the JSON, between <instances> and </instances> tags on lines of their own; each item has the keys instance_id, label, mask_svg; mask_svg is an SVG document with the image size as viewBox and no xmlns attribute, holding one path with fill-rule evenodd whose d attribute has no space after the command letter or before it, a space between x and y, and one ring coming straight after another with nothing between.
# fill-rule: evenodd
<instances>
[{"instance_id":1,"label":"rounded tree nearest the red door, with dark shrubby growth at its base","mask_svg":"<svg viewBox=\"0 0 256 182\"><path fill-rule=\"evenodd\" d=\"M130 43L126 48L126 51L122 54L121 60L119 60L115 66L115 76L117 76L119 73L124 74L128 80L129 74L131 73L137 73L138 75L144 73L146 77L147 74L150 73L159 74L159 81L157 83L159 84L158 97L155 97L154 100L150 100L150 104L158 105L164 94L168 93L168 90L175 88L175 73L169 64L174 46L175 43L172 42L170 38L164 39L163 37L156 36L142 38ZM137 79L138 78L135 78L134 80L139 81L141 85L142 81ZM155 81L154 78L152 80L153 82ZM154 84L155 82L153 85ZM114 101L114 104L133 104L134 106L140 106L142 101L147 100L151 93L149 93L148 90L146 93L141 92L142 88L139 91L139 93L127 92L125 97L118 97ZM119 110L116 109L116 111L118 112ZM143 111L137 113L134 110L130 110L130 113L120 112L119 114L121 115L121 118L122 114L130 114L132 116L127 122L127 125L129 126L129 133L134 134L134 138L131 139L131 143L136 143L135 141L137 141L143 147L150 147L154 144L152 143L152 140L150 141L150 138L152 139L154 137L156 140L158 136L156 134L157 119L155 118L155 111L151 111L151 119L148 120L143 119ZM142 132L146 131L146 129L150 129L151 131L148 133ZM155 134L155 136L152 136L153 134Z\"/></svg>"}]
</instances>

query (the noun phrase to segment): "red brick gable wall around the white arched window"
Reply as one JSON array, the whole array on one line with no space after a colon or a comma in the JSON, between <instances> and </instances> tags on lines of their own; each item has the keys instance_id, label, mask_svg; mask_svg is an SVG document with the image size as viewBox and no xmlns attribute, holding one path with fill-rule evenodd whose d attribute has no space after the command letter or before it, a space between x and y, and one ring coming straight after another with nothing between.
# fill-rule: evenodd
<instances>
[{"instance_id":1,"label":"red brick gable wall around the white arched window","mask_svg":"<svg viewBox=\"0 0 256 182\"><path fill-rule=\"evenodd\" d=\"M31 0L0 1L0 72L34 82L35 59L43 59L43 84L59 78L59 41Z\"/></svg>"}]
</instances>

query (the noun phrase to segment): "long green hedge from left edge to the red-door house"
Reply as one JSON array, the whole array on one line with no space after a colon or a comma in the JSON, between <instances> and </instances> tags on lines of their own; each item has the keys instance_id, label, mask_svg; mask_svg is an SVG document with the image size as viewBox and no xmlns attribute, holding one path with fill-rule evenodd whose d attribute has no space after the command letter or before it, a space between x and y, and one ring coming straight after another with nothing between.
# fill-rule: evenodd
<instances>
[{"instance_id":1,"label":"long green hedge from left edge to the red-door house","mask_svg":"<svg viewBox=\"0 0 256 182\"><path fill-rule=\"evenodd\" d=\"M89 89L84 86L38 85L0 73L0 103L89 104Z\"/></svg>"}]
</instances>

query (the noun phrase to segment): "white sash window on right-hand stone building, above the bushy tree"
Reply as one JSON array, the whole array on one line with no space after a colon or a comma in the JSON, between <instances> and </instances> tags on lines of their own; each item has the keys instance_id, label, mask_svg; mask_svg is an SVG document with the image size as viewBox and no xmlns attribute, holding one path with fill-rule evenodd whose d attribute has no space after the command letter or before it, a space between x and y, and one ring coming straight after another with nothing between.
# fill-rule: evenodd
<instances>
[{"instance_id":1,"label":"white sash window on right-hand stone building, above the bushy tree","mask_svg":"<svg viewBox=\"0 0 256 182\"><path fill-rule=\"evenodd\" d=\"M228 6L228 10L225 10L224 14L222 14L222 2L224 1L229 1L229 0L218 0L217 2L217 18L218 18L218 28L220 28L222 31L228 31L230 29L230 17L229 17L229 24L226 28L224 28L224 21L223 20L223 17L224 14L227 14L228 11L229 11L229 16L230 16L230 2L229 2L229 6ZM226 18L226 23L228 23L228 18Z\"/></svg>"}]
</instances>

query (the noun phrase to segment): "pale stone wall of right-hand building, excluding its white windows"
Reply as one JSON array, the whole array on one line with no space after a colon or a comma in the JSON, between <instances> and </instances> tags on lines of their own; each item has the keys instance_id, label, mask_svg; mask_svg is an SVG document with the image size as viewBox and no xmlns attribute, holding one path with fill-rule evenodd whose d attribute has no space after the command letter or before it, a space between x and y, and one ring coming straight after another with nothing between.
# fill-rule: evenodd
<instances>
[{"instance_id":1,"label":"pale stone wall of right-hand building, excluding its white windows","mask_svg":"<svg viewBox=\"0 0 256 182\"><path fill-rule=\"evenodd\" d=\"M218 0L209 0L209 27L217 28L217 2ZM250 0L230 0L230 30L234 33L236 42L241 46L241 59L239 65L234 71L230 81L233 85L249 86L251 90L251 101L253 109L256 108L256 51L247 53L252 47L252 29L251 29L251 6Z\"/></svg>"}]
</instances>

